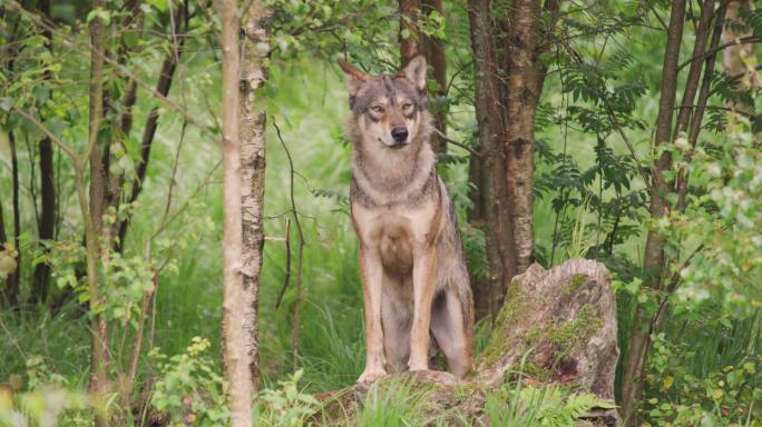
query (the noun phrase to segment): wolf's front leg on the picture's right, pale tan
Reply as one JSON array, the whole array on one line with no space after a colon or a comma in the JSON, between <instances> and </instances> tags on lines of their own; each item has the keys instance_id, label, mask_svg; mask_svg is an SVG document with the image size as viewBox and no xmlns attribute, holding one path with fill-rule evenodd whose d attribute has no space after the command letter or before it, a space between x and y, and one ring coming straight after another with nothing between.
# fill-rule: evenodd
<instances>
[{"instance_id":1,"label":"wolf's front leg on the picture's right, pale tan","mask_svg":"<svg viewBox=\"0 0 762 427\"><path fill-rule=\"evenodd\" d=\"M437 257L433 245L416 250L413 260L413 321L410 330L410 370L429 369L429 326L436 286Z\"/></svg>"}]
</instances>

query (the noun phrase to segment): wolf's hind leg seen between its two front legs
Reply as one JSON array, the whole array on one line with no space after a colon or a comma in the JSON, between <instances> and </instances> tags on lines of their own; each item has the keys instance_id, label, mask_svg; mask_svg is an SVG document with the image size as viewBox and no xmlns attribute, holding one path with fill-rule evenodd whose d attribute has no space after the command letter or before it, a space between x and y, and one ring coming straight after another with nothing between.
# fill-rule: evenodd
<instances>
[{"instance_id":1,"label":"wolf's hind leg seen between its two front legs","mask_svg":"<svg viewBox=\"0 0 762 427\"><path fill-rule=\"evenodd\" d=\"M393 300L393 296L384 294L381 307L383 322L383 350L387 356L387 370L402 373L408 370L410 358L410 314Z\"/></svg>"}]
</instances>

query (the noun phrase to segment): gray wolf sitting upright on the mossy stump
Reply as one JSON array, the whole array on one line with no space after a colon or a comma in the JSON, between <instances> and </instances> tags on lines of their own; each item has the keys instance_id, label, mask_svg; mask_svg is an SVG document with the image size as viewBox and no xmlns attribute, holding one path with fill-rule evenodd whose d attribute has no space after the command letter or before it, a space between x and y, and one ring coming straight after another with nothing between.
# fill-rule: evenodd
<instances>
[{"instance_id":1,"label":"gray wolf sitting upright on the mossy stump","mask_svg":"<svg viewBox=\"0 0 762 427\"><path fill-rule=\"evenodd\" d=\"M340 61L352 115L350 203L360 239L365 369L429 368L430 335L462 377L471 365L473 298L456 215L430 146L426 60L395 76L369 76Z\"/></svg>"}]
</instances>

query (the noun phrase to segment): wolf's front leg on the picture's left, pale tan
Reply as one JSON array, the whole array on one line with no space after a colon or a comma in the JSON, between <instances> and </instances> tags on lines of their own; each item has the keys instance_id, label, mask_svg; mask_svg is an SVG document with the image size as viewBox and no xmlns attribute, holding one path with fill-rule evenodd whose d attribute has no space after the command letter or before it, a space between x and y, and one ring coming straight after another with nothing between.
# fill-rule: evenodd
<instances>
[{"instance_id":1,"label":"wolf's front leg on the picture's left, pale tan","mask_svg":"<svg viewBox=\"0 0 762 427\"><path fill-rule=\"evenodd\" d=\"M387 375L383 367L383 329L381 327L383 267L375 247L360 245L360 270L362 297L365 305L365 370L358 383L363 383Z\"/></svg>"}]
</instances>

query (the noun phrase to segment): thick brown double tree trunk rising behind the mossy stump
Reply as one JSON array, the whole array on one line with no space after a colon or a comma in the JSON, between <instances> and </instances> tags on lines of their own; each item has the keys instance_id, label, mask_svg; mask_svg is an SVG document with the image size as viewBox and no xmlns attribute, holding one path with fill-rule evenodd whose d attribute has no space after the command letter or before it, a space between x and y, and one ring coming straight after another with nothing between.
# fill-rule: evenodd
<instances>
[{"instance_id":1,"label":"thick brown double tree trunk rising behind the mossy stump","mask_svg":"<svg viewBox=\"0 0 762 427\"><path fill-rule=\"evenodd\" d=\"M540 54L550 46L559 1L546 2L550 19L544 27L540 1L504 7L489 0L468 3L481 153L470 161L470 181L481 187L471 193L481 203L472 214L490 231L485 235L489 284L475 280L473 291L477 312L492 317L511 278L533 260L535 110L547 70Z\"/></svg>"}]
</instances>

